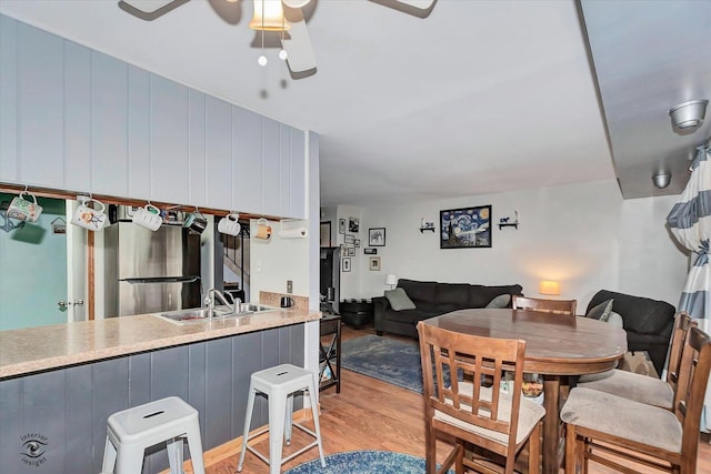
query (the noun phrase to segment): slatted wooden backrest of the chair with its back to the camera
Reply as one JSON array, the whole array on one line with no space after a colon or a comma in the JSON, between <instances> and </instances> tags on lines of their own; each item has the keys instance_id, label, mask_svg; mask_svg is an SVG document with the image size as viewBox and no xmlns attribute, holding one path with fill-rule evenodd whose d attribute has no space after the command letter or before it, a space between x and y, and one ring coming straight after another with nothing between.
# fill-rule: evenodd
<instances>
[{"instance_id":1,"label":"slatted wooden backrest of the chair with its back to the camera","mask_svg":"<svg viewBox=\"0 0 711 474\"><path fill-rule=\"evenodd\" d=\"M523 382L525 341L481 337L418 324L424 385L425 416L438 410L461 422L517 438ZM503 371L513 373L513 391L501 389ZM463 381L463 374L472 382ZM493 381L491 387L481 381ZM511 400L509 413L499 412L502 396ZM509 447L515 442L509 443Z\"/></svg>"}]
</instances>

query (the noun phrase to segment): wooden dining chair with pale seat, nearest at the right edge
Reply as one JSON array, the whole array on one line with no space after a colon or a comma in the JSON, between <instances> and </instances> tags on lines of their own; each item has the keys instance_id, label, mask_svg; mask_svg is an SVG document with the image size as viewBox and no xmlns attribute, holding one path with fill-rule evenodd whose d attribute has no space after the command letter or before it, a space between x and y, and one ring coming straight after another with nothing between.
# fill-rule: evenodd
<instances>
[{"instance_id":1,"label":"wooden dining chair with pale seat, nearest at the right edge","mask_svg":"<svg viewBox=\"0 0 711 474\"><path fill-rule=\"evenodd\" d=\"M691 327L681 354L673 411L597 390L571 390L561 411L565 473L574 474L578 466L588 472L588 461L623 473L639 472L621 464L627 461L675 474L694 474L710 370L711 340Z\"/></svg>"}]
</instances>

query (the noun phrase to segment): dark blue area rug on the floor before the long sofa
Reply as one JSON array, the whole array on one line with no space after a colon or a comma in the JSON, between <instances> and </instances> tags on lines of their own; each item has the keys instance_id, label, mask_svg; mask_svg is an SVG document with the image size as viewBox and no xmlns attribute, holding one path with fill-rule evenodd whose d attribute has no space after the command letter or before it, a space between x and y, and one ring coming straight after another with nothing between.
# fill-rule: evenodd
<instances>
[{"instance_id":1,"label":"dark blue area rug on the floor before the long sofa","mask_svg":"<svg viewBox=\"0 0 711 474\"><path fill-rule=\"evenodd\" d=\"M422 393L418 342L368 334L341 343L341 366L413 392Z\"/></svg>"}]
</instances>

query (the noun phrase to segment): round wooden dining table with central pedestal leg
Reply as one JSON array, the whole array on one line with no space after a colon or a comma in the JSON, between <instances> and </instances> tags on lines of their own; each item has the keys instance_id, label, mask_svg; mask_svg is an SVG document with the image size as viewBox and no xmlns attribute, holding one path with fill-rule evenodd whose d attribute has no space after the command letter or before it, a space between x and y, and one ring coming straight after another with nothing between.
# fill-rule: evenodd
<instances>
[{"instance_id":1,"label":"round wooden dining table with central pedestal leg","mask_svg":"<svg viewBox=\"0 0 711 474\"><path fill-rule=\"evenodd\" d=\"M564 453L560 435L561 377L604 372L627 352L627 333L597 320L511 309L459 310L424 324L463 334L525 341L523 371L543 377L543 473L557 474Z\"/></svg>"}]
</instances>

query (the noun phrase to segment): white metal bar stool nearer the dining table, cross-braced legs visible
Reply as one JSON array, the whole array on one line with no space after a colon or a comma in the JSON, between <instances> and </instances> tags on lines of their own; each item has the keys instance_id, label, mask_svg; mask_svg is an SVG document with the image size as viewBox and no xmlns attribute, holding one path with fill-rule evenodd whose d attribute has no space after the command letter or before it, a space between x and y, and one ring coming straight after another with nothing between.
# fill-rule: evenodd
<instances>
[{"instance_id":1,"label":"white metal bar stool nearer the dining table, cross-braced legs visible","mask_svg":"<svg viewBox=\"0 0 711 474\"><path fill-rule=\"evenodd\" d=\"M293 411L293 393L308 391L311 400L316 403L317 389L313 381L313 373L291 364L277 365L271 369L254 372L250 377L249 399L247 402L247 417L244 418L244 433L242 434L242 453L237 471L242 471L244 463L244 454L247 450L252 452L257 457L269 464L269 474L279 474L281 465L296 456L304 453L313 446L319 447L319 456L321 457L321 467L326 467L323 460L323 447L321 445L321 430L319 427L319 411L311 405L311 414L313 416L313 425L316 433L306 426L292 421ZM252 411L254 409L254 396L257 392L263 393L269 399L269 426L249 435L249 427L252 420ZM286 438L287 444L291 444L291 426L292 424L310 434L316 440L309 445L302 447L289 456L281 458L282 443ZM248 444L249 440L259 436L269 431L269 458ZM283 434L283 438L282 438Z\"/></svg>"}]
</instances>

